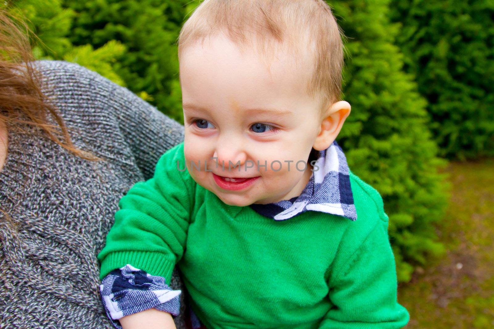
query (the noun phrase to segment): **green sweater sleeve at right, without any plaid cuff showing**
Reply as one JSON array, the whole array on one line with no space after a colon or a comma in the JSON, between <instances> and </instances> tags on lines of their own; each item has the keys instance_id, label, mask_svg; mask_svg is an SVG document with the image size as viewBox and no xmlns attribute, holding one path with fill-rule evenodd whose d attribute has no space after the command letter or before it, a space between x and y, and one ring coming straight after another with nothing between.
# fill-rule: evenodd
<instances>
[{"instance_id":1,"label":"green sweater sleeve at right, without any plaid cuff showing","mask_svg":"<svg viewBox=\"0 0 494 329\"><path fill-rule=\"evenodd\" d=\"M410 316L397 301L395 258L388 222L379 220L362 245L329 280L334 306L320 329L398 329Z\"/></svg>"}]
</instances>

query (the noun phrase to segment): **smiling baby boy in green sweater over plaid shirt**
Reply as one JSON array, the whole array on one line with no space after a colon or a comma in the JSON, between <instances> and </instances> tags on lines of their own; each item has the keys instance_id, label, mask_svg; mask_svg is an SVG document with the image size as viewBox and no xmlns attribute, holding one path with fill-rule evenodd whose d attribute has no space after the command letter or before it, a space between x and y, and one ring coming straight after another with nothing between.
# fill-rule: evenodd
<instances>
[{"instance_id":1,"label":"smiling baby boy in green sweater over plaid shirt","mask_svg":"<svg viewBox=\"0 0 494 329\"><path fill-rule=\"evenodd\" d=\"M177 265L191 328L404 327L382 198L335 142L350 105L328 4L206 0L178 55L184 143L98 256L115 325L174 328Z\"/></svg>"}]
</instances>

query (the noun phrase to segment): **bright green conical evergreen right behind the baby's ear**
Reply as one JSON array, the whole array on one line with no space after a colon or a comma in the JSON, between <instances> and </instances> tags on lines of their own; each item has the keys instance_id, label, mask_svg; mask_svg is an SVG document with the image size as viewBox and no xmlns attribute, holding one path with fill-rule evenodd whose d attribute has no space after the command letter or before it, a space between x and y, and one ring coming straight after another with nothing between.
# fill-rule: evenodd
<instances>
[{"instance_id":1,"label":"bright green conical evergreen right behind the baby's ear","mask_svg":"<svg viewBox=\"0 0 494 329\"><path fill-rule=\"evenodd\" d=\"M330 1L348 37L344 99L352 112L338 136L352 171L374 186L390 217L389 234L399 281L416 263L441 255L433 223L444 216L447 193L437 173L446 162L427 128L426 101L413 76L402 71L394 45L399 26L387 0Z\"/></svg>"}]
</instances>

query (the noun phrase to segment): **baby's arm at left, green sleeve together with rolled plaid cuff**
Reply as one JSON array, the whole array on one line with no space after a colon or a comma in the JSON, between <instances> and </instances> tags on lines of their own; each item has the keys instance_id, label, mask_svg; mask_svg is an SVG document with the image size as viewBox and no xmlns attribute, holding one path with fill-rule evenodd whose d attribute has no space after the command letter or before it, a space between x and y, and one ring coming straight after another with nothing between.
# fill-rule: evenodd
<instances>
[{"instance_id":1,"label":"baby's arm at left, green sleeve together with rolled plaid cuff","mask_svg":"<svg viewBox=\"0 0 494 329\"><path fill-rule=\"evenodd\" d=\"M128 328L133 328L135 321L140 322L142 314L148 314L134 316L142 310L159 305L160 310L156 311L161 314L156 315L154 311L149 314L153 314L153 318L167 318L170 317L166 313L168 309L176 308L172 307L176 306L173 300L167 302L168 295L174 297L176 292L170 294L165 284L170 283L175 263L185 249L195 192L195 182L187 170L178 171L177 161L183 168L183 143L163 154L152 179L136 183L120 200L115 224L108 233L105 248L98 255L100 278L105 278L101 294L107 313L120 311L109 317L125 318L124 322L130 323ZM128 267L127 264L131 265L130 272L114 276L124 279L115 287L109 282L112 276L108 274ZM144 286L147 289L139 289ZM157 287L161 288L157 290ZM145 327L141 324L138 328Z\"/></svg>"}]
</instances>

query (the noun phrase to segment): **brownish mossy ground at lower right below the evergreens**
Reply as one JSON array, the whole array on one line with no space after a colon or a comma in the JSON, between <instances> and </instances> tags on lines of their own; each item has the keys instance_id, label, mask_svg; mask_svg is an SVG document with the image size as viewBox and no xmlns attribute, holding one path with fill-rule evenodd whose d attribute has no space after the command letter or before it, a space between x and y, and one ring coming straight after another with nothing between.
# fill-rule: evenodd
<instances>
[{"instance_id":1,"label":"brownish mossy ground at lower right below the evergreens","mask_svg":"<svg viewBox=\"0 0 494 329\"><path fill-rule=\"evenodd\" d=\"M448 252L398 289L407 329L494 328L494 159L451 163L445 220L437 227Z\"/></svg>"}]
</instances>

